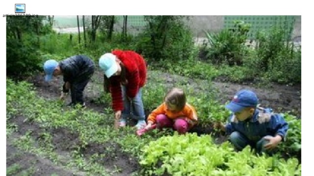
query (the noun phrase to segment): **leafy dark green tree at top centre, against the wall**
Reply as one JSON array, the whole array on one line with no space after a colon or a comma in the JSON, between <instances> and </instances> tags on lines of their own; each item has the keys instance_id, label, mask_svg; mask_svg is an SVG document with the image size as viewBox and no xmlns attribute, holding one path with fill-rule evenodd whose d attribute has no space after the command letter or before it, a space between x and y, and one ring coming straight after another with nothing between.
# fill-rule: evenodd
<instances>
[{"instance_id":1,"label":"leafy dark green tree at top centre, against the wall","mask_svg":"<svg viewBox=\"0 0 314 176\"><path fill-rule=\"evenodd\" d=\"M190 58L193 51L191 30L184 16L144 16L145 29L138 35L136 51L154 61Z\"/></svg>"}]
</instances>

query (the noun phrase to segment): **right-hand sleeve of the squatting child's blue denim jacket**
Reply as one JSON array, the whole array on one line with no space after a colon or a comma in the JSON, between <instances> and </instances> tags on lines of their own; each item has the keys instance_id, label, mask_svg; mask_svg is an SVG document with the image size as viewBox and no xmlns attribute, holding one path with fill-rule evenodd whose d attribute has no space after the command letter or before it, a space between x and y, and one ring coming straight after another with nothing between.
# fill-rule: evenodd
<instances>
[{"instance_id":1,"label":"right-hand sleeve of the squatting child's blue denim jacket","mask_svg":"<svg viewBox=\"0 0 314 176\"><path fill-rule=\"evenodd\" d=\"M281 114L272 114L268 128L271 129L274 135L281 135L283 141L286 140L286 135L288 131L288 123L285 121Z\"/></svg>"}]
</instances>

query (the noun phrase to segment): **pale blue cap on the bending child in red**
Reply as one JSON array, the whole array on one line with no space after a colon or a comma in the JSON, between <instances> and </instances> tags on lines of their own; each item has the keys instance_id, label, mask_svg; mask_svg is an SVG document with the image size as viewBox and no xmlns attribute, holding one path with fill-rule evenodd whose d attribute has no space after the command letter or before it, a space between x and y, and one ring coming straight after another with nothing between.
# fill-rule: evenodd
<instances>
[{"instance_id":1,"label":"pale blue cap on the bending child in red","mask_svg":"<svg viewBox=\"0 0 314 176\"><path fill-rule=\"evenodd\" d=\"M99 59L99 66L102 68L107 78L110 78L110 76L118 70L116 56L111 53L102 55Z\"/></svg>"}]
</instances>

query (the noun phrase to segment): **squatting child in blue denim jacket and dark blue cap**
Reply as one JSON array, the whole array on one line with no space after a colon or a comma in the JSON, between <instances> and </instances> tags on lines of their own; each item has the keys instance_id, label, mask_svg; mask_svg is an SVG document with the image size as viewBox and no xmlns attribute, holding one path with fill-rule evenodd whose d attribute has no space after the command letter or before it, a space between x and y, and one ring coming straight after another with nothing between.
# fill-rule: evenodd
<instances>
[{"instance_id":1,"label":"squatting child in blue denim jacket and dark blue cap","mask_svg":"<svg viewBox=\"0 0 314 176\"><path fill-rule=\"evenodd\" d=\"M272 149L285 140L288 123L270 109L259 110L258 97L253 91L238 91L226 108L233 112L228 124L216 127L230 134L235 149L241 151L250 145L257 153L272 154Z\"/></svg>"}]
</instances>

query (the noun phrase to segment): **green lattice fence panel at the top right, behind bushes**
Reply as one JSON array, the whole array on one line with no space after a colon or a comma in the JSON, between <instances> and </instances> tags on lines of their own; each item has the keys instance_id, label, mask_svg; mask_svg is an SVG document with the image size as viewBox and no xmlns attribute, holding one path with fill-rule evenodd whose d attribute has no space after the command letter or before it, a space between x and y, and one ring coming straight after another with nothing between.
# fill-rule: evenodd
<instances>
[{"instance_id":1,"label":"green lattice fence panel at the top right, behind bushes","mask_svg":"<svg viewBox=\"0 0 314 176\"><path fill-rule=\"evenodd\" d=\"M258 31L267 31L274 25L283 25L288 31L294 26L295 16L225 16L224 28L234 28L235 20L250 23L249 37L254 39ZM291 36L291 32L288 34L289 36Z\"/></svg>"}]
</instances>

